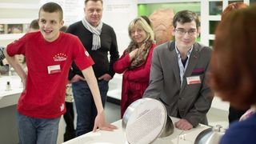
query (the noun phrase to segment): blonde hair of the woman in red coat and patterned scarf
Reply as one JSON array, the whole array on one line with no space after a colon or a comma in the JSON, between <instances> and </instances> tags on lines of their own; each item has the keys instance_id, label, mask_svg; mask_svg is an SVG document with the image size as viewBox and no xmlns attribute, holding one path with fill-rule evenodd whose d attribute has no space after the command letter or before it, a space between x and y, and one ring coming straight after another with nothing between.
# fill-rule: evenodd
<instances>
[{"instance_id":1,"label":"blonde hair of the woman in red coat and patterned scarf","mask_svg":"<svg viewBox=\"0 0 256 144\"><path fill-rule=\"evenodd\" d=\"M134 30L134 28L146 31L147 38L145 39L145 41L148 39L154 41L154 32L151 29L151 26L146 22L145 19L138 17L138 18L135 18L132 22L130 22L130 25L128 27L128 32L131 40L132 40L131 31Z\"/></svg>"}]
</instances>

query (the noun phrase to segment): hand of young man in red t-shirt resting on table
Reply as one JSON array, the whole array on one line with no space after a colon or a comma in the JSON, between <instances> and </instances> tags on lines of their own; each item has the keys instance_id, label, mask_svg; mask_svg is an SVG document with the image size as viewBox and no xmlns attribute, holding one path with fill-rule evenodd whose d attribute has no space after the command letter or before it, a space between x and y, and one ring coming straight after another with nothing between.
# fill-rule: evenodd
<instances>
[{"instance_id":1,"label":"hand of young man in red t-shirt resting on table","mask_svg":"<svg viewBox=\"0 0 256 144\"><path fill-rule=\"evenodd\" d=\"M100 130L113 131L117 129L117 126L106 123L104 111L98 114L94 121L94 132L99 128Z\"/></svg>"}]
</instances>

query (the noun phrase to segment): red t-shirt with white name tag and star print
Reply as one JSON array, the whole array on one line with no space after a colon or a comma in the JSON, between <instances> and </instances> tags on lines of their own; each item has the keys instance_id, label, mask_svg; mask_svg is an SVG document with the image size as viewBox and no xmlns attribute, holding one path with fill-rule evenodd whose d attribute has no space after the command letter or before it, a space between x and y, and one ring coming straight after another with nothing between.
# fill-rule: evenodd
<instances>
[{"instance_id":1,"label":"red t-shirt with white name tag and star print","mask_svg":"<svg viewBox=\"0 0 256 144\"><path fill-rule=\"evenodd\" d=\"M33 118L57 118L64 114L71 63L74 61L80 70L94 64L82 42L62 32L54 42L46 42L40 32L28 33L6 49L10 56L26 56L26 90L18 100L18 112Z\"/></svg>"}]
</instances>

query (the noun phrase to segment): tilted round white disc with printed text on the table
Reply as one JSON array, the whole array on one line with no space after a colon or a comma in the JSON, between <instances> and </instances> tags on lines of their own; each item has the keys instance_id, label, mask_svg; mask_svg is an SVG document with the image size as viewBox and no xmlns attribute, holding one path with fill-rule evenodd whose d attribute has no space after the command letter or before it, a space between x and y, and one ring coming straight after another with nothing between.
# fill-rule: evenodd
<instances>
[{"instance_id":1,"label":"tilted round white disc with printed text on the table","mask_svg":"<svg viewBox=\"0 0 256 144\"><path fill-rule=\"evenodd\" d=\"M174 132L166 107L153 98L141 98L130 104L122 118L122 128L129 143L150 143Z\"/></svg>"}]
</instances>

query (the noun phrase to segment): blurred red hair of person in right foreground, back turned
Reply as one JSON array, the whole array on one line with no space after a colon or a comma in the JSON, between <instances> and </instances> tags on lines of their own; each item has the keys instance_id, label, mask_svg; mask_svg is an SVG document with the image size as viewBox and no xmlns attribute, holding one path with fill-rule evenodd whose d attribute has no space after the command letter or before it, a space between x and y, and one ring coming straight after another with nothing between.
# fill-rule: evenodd
<instances>
[{"instance_id":1,"label":"blurred red hair of person in right foreground, back turned","mask_svg":"<svg viewBox=\"0 0 256 144\"><path fill-rule=\"evenodd\" d=\"M209 85L237 108L256 103L256 6L234 10L218 24Z\"/></svg>"}]
</instances>

